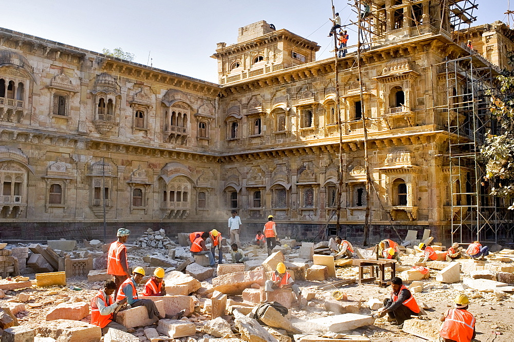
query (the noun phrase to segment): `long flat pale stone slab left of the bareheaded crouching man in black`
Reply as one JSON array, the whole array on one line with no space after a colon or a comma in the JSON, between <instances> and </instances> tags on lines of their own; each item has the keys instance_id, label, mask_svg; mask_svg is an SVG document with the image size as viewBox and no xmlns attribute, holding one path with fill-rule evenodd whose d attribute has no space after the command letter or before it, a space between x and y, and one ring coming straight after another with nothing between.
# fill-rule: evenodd
<instances>
[{"instance_id":1,"label":"long flat pale stone slab left of the bareheaded crouching man in black","mask_svg":"<svg viewBox=\"0 0 514 342\"><path fill-rule=\"evenodd\" d=\"M368 315L345 313L342 315L311 319L306 323L309 327L324 333L338 333L346 330L354 330L360 327L373 325L373 323L375 323L375 318Z\"/></svg>"}]
</instances>

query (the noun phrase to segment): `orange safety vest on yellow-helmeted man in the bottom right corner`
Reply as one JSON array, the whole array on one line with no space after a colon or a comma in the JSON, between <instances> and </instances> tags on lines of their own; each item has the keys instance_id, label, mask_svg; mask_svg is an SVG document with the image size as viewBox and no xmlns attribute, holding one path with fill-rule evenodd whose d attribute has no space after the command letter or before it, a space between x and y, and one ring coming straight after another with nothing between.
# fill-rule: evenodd
<instances>
[{"instance_id":1,"label":"orange safety vest on yellow-helmeted man in the bottom right corner","mask_svg":"<svg viewBox=\"0 0 514 342\"><path fill-rule=\"evenodd\" d=\"M475 317L463 309L448 310L439 335L457 342L470 342L475 330Z\"/></svg>"}]
</instances>

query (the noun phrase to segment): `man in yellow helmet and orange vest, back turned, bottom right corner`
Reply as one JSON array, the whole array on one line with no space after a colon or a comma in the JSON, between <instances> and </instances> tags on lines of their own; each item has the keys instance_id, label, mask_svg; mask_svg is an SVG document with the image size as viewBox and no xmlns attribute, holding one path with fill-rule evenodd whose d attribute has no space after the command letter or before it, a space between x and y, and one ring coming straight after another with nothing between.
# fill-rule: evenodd
<instances>
[{"instance_id":1,"label":"man in yellow helmet and orange vest, back turned, bottom right corner","mask_svg":"<svg viewBox=\"0 0 514 342\"><path fill-rule=\"evenodd\" d=\"M465 294L457 294L455 308L443 314L440 321L444 322L439 336L445 342L470 342L475 338L475 317L468 311L469 299Z\"/></svg>"}]
</instances>

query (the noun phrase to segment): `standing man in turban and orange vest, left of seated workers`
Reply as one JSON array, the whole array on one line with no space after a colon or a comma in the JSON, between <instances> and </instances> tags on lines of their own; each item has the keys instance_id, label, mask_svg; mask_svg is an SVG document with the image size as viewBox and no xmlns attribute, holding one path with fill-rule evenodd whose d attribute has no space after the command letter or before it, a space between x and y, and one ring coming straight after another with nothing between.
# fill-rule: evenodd
<instances>
[{"instance_id":1,"label":"standing man in turban and orange vest, left of seated workers","mask_svg":"<svg viewBox=\"0 0 514 342\"><path fill-rule=\"evenodd\" d=\"M130 235L130 230L120 228L116 235L118 236L118 240L111 244L107 252L107 274L113 276L114 283L116 284L116 291L114 291L115 297L118 294L120 285L130 277L127 249L124 245L127 242L128 235Z\"/></svg>"}]
</instances>

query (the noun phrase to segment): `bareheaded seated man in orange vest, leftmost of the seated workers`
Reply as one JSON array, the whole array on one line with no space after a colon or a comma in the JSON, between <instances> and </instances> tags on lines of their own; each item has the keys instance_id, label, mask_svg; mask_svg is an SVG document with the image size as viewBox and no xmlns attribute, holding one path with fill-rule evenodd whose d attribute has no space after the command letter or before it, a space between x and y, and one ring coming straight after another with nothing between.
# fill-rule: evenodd
<instances>
[{"instance_id":1,"label":"bareheaded seated man in orange vest, leftmost of the seated workers","mask_svg":"<svg viewBox=\"0 0 514 342\"><path fill-rule=\"evenodd\" d=\"M127 332L127 328L114 321L114 312L125 304L126 298L113 303L114 291L116 291L116 283L113 280L107 280L103 290L98 291L91 299L91 324L102 328L102 334L107 333L109 328Z\"/></svg>"}]
</instances>

